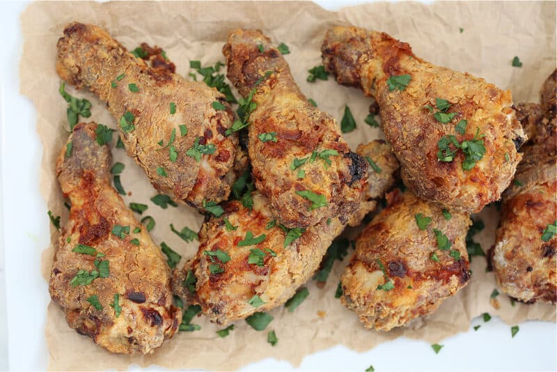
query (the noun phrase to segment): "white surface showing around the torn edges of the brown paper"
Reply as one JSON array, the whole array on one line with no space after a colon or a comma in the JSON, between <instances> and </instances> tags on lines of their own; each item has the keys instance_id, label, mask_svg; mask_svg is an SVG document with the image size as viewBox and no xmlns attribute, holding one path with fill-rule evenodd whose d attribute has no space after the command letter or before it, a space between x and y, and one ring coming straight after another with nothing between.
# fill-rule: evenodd
<instances>
[{"instance_id":1,"label":"white surface showing around the torn edges of the brown paper","mask_svg":"<svg viewBox=\"0 0 557 372\"><path fill-rule=\"evenodd\" d=\"M317 3L334 10L342 2ZM0 2L0 370L29 371L47 367L44 323L49 295L40 276L40 259L49 243L49 220L38 189L42 146L35 130L36 112L19 95L19 13L25 5ZM489 323L474 319L472 325L481 327L441 342L439 355L427 343L397 339L365 353L336 346L306 357L299 369L364 371L373 365L378 372L557 370L554 323L523 323L515 338L498 318ZM290 369L288 362L265 359L244 371Z\"/></svg>"}]
</instances>

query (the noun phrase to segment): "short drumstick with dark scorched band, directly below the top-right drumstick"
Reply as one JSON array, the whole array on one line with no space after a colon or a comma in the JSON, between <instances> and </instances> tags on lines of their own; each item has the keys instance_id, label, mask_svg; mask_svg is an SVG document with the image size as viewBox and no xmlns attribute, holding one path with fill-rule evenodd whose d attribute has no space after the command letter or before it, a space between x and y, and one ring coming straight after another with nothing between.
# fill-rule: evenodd
<instances>
[{"instance_id":1,"label":"short drumstick with dark scorched band, directly below the top-right drumstick","mask_svg":"<svg viewBox=\"0 0 557 372\"><path fill-rule=\"evenodd\" d=\"M365 327L381 331L433 313L470 278L468 215L453 211L446 219L441 208L409 191L396 189L386 198L387 208L356 239L356 252L340 278L345 307ZM418 214L431 219L424 230ZM438 234L446 235L450 247L440 249Z\"/></svg>"}]
</instances>

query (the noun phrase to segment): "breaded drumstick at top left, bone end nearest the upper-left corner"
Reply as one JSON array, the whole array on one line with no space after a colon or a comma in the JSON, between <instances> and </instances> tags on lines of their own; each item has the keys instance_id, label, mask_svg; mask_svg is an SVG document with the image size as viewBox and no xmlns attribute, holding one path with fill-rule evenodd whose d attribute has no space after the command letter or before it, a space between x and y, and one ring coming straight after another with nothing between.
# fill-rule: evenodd
<instances>
[{"instance_id":1,"label":"breaded drumstick at top left, bone end nearest the upper-left corner","mask_svg":"<svg viewBox=\"0 0 557 372\"><path fill-rule=\"evenodd\" d=\"M148 67L97 26L74 22L64 35L58 75L107 102L128 155L155 189L198 208L228 199L238 139L225 135L233 111L224 95L171 66Z\"/></svg>"}]
</instances>

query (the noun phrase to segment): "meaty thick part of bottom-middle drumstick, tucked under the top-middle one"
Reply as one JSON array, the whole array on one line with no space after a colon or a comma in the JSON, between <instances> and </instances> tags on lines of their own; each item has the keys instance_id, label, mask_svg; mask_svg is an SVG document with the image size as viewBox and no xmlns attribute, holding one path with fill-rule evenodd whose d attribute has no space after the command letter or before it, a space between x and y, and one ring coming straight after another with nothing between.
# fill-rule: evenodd
<instances>
[{"instance_id":1,"label":"meaty thick part of bottom-middle drumstick, tucked under the top-middle one","mask_svg":"<svg viewBox=\"0 0 557 372\"><path fill-rule=\"evenodd\" d=\"M274 219L265 196L253 192L252 198L251 210L239 201L223 203L225 213L201 226L196 256L182 270L174 270L175 293L200 304L212 322L222 325L286 302L317 270L345 226L334 218L305 231L289 230ZM258 244L246 242L249 236L261 239L263 235L265 239ZM285 239L290 235L299 237L287 245ZM219 253L221 260L217 251L224 252L229 261ZM191 286L188 277L193 276L196 283ZM254 296L264 303L253 302Z\"/></svg>"}]
</instances>

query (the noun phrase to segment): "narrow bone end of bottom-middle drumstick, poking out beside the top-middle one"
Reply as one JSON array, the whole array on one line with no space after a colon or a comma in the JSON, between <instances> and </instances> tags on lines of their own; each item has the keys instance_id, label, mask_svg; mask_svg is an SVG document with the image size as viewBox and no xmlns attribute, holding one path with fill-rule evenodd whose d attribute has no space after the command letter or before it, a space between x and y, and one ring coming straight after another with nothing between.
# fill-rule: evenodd
<instances>
[{"instance_id":1,"label":"narrow bone end of bottom-middle drumstick, poking out beside the top-middle one","mask_svg":"<svg viewBox=\"0 0 557 372\"><path fill-rule=\"evenodd\" d=\"M395 173L400 164L395 155L391 152L391 145L382 139L374 139L368 144L360 144L356 148L356 153L367 160L368 187L363 193L363 200L354 215L349 226L358 226L363 217L377 207L377 199L383 197L385 192L395 183Z\"/></svg>"}]
</instances>

